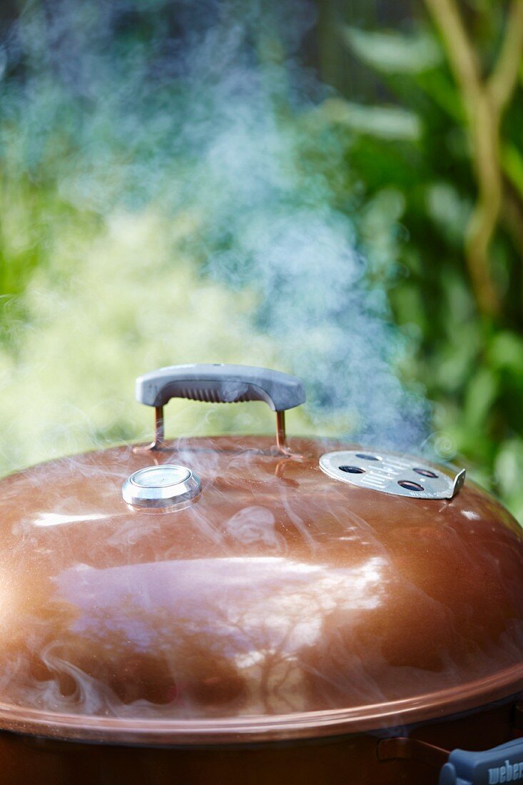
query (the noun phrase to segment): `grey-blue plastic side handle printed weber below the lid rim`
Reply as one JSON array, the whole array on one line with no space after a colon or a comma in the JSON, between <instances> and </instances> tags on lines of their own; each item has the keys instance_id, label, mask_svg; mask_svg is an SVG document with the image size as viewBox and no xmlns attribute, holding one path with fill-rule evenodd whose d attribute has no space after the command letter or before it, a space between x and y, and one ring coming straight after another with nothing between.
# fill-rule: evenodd
<instances>
[{"instance_id":1,"label":"grey-blue plastic side handle printed weber below the lid rim","mask_svg":"<svg viewBox=\"0 0 523 785\"><path fill-rule=\"evenodd\" d=\"M523 783L523 739L485 752L453 750L440 772L440 785Z\"/></svg>"}]
</instances>

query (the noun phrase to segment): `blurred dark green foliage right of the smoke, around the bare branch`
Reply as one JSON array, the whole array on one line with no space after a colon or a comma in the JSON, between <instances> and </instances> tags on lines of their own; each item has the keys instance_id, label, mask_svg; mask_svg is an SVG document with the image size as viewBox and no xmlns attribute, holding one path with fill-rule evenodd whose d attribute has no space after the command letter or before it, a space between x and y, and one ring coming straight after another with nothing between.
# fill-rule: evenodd
<instances>
[{"instance_id":1,"label":"blurred dark green foliage right of the smoke, around the bare branch","mask_svg":"<svg viewBox=\"0 0 523 785\"><path fill-rule=\"evenodd\" d=\"M507 5L454 7L484 74L514 24ZM381 95L360 104L331 97L323 109L346 129L346 166L359 181L363 209L380 197L398 206L398 239L390 247L398 274L389 294L397 323L419 336L408 373L436 402L434 427L449 449L523 520L521 56L500 132L504 196L488 262L501 307L492 316L474 298L466 265L477 183L465 99L444 35L422 8L407 31L362 29L347 20L331 35L342 36Z\"/></svg>"}]
</instances>

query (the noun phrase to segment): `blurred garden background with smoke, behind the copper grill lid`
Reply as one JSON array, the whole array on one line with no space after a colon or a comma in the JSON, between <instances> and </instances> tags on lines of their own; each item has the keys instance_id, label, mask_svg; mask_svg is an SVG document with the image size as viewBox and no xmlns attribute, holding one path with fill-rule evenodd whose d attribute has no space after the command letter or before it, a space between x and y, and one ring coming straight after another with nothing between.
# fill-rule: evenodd
<instances>
[{"instance_id":1,"label":"blurred garden background with smoke, behind the copper grill lid","mask_svg":"<svg viewBox=\"0 0 523 785\"><path fill-rule=\"evenodd\" d=\"M522 47L521 0L4 0L0 472L237 362L304 379L291 433L454 460L523 522Z\"/></svg>"}]
</instances>

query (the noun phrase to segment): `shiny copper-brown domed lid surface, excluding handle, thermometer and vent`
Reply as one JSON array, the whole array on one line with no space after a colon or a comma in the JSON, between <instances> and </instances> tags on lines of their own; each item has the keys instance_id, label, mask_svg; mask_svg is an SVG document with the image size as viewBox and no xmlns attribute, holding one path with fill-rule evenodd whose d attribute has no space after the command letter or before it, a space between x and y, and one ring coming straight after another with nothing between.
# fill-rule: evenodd
<instances>
[{"instance_id":1,"label":"shiny copper-brown domed lid surface, excluding handle, thermometer and vent","mask_svg":"<svg viewBox=\"0 0 523 785\"><path fill-rule=\"evenodd\" d=\"M452 501L338 482L347 449L178 440L0 483L0 725L156 743L418 721L521 689L523 546L474 485ZM144 512L123 482L187 466ZM440 469L438 469L439 471Z\"/></svg>"}]
</instances>

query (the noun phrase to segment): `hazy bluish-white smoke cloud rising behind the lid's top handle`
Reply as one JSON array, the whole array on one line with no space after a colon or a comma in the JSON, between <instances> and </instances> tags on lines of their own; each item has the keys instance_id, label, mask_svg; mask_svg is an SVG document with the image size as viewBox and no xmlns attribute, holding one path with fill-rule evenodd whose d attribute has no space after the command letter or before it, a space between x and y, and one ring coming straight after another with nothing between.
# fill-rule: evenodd
<instances>
[{"instance_id":1,"label":"hazy bluish-white smoke cloud rising behind the lid's top handle","mask_svg":"<svg viewBox=\"0 0 523 785\"><path fill-rule=\"evenodd\" d=\"M134 376L194 361L298 374L298 429L421 446L411 346L301 62L314 24L305 0L32 0L4 24L4 469L144 435ZM175 427L259 427L190 406Z\"/></svg>"}]
</instances>

